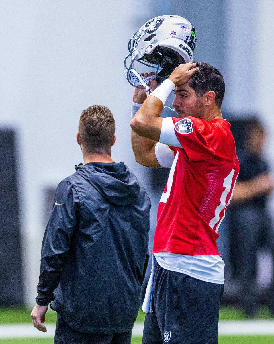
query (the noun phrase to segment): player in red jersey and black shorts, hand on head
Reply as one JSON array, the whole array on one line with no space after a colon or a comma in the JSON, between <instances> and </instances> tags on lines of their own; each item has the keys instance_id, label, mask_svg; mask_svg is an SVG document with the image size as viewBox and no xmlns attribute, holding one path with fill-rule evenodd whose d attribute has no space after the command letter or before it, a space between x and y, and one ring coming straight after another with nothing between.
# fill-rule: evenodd
<instances>
[{"instance_id":1,"label":"player in red jersey and black shorts, hand on head","mask_svg":"<svg viewBox=\"0 0 274 344\"><path fill-rule=\"evenodd\" d=\"M239 173L221 115L223 77L207 63L187 63L150 87L147 99L134 90L132 148L140 164L171 170L157 214L143 344L215 344L224 283L216 239ZM172 90L178 118L161 118Z\"/></svg>"}]
</instances>

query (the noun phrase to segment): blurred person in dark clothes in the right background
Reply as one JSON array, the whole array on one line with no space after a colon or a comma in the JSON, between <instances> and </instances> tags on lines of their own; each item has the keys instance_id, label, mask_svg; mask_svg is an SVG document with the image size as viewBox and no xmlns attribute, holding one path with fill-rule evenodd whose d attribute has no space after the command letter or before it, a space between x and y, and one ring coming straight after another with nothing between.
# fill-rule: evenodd
<instances>
[{"instance_id":1,"label":"blurred person in dark clothes in the right background","mask_svg":"<svg viewBox=\"0 0 274 344\"><path fill-rule=\"evenodd\" d=\"M256 252L266 246L274 257L274 232L266 209L274 179L262 157L264 142L265 130L261 123L257 119L249 121L243 146L237 152L240 173L231 201L231 260L234 275L241 284L242 306L250 316L258 309ZM267 303L274 315L274 280L270 289Z\"/></svg>"}]
</instances>

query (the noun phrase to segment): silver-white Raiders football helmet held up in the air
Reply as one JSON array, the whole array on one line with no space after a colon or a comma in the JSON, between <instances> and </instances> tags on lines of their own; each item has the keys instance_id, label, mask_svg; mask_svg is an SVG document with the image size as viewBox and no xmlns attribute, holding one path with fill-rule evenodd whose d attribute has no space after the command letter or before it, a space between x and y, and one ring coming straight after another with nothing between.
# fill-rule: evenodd
<instances>
[{"instance_id":1,"label":"silver-white Raiders football helmet held up in the air","mask_svg":"<svg viewBox=\"0 0 274 344\"><path fill-rule=\"evenodd\" d=\"M156 68L153 77L161 84L179 64L193 61L197 41L195 28L183 17L162 15L149 20L129 41L129 54L124 60L128 82L148 92L149 78L136 71L134 62Z\"/></svg>"}]
</instances>

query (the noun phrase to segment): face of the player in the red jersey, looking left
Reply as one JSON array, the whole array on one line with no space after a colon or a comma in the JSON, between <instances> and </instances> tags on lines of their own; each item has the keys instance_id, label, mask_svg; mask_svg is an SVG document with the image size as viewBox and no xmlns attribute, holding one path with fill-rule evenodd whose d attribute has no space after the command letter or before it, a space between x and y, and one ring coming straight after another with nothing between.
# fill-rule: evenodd
<instances>
[{"instance_id":1,"label":"face of the player in the red jersey, looking left","mask_svg":"<svg viewBox=\"0 0 274 344\"><path fill-rule=\"evenodd\" d=\"M175 99L172 105L175 107L178 117L202 118L204 113L203 97L197 98L194 89L188 83L175 87Z\"/></svg>"}]
</instances>

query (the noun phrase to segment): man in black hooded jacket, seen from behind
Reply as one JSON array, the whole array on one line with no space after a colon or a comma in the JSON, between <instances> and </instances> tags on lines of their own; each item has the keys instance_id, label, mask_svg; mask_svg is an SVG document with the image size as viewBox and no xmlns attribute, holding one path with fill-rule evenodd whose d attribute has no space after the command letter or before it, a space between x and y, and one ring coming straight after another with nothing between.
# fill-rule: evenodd
<instances>
[{"instance_id":1,"label":"man in black hooded jacket, seen from behind","mask_svg":"<svg viewBox=\"0 0 274 344\"><path fill-rule=\"evenodd\" d=\"M111 111L80 116L85 165L57 187L41 254L34 326L57 312L55 344L130 344L147 266L150 199L135 175L111 159Z\"/></svg>"}]
</instances>

